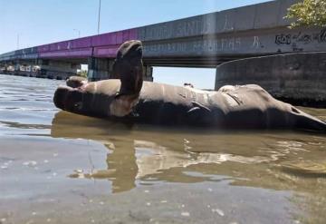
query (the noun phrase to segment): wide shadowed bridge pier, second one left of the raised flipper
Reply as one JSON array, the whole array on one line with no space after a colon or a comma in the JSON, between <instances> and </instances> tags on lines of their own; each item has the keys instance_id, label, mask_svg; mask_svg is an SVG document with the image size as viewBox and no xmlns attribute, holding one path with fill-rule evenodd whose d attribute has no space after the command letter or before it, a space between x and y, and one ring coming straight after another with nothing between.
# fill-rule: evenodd
<instances>
[{"instance_id":1,"label":"wide shadowed bridge pier, second one left of the raised flipper","mask_svg":"<svg viewBox=\"0 0 326 224\"><path fill-rule=\"evenodd\" d=\"M38 74L41 78L67 79L72 75L77 75L77 69L81 69L79 63L68 63L54 60L40 60L41 71Z\"/></svg>"}]
</instances>

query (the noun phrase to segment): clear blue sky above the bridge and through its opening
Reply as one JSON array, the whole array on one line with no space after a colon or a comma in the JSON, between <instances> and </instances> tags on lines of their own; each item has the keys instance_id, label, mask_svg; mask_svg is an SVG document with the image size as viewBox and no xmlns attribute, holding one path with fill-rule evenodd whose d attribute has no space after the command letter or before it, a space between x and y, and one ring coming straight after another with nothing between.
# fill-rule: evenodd
<instances>
[{"instance_id":1,"label":"clear blue sky above the bridge and through its opening","mask_svg":"<svg viewBox=\"0 0 326 224\"><path fill-rule=\"evenodd\" d=\"M101 0L100 34L268 0ZM0 0L0 54L97 34L100 0ZM18 37L19 36L19 37ZM17 43L17 39L19 42ZM215 69L154 68L154 81L213 89Z\"/></svg>"}]
</instances>

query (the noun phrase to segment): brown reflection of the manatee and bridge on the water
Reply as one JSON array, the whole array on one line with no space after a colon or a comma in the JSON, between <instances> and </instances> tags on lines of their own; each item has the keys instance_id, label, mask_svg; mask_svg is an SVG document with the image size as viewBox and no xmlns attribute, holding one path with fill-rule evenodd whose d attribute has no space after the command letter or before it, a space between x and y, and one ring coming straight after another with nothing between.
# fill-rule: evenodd
<instances>
[{"instance_id":1,"label":"brown reflection of the manatee and bridge on the water","mask_svg":"<svg viewBox=\"0 0 326 224\"><path fill-rule=\"evenodd\" d=\"M150 184L152 180L214 181L215 175L232 178L234 185L273 190L295 187L308 192L316 174L321 177L326 174L323 156L326 138L323 136L285 131L129 128L110 121L73 116L72 119L71 113L58 112L53 119L51 135L59 138L87 136L103 142L108 148L108 167L92 173L75 170L71 177L108 178L114 186L113 192L130 190L137 183ZM295 177L296 186L293 186L294 170L305 177ZM202 175L194 176L194 172Z\"/></svg>"}]
</instances>

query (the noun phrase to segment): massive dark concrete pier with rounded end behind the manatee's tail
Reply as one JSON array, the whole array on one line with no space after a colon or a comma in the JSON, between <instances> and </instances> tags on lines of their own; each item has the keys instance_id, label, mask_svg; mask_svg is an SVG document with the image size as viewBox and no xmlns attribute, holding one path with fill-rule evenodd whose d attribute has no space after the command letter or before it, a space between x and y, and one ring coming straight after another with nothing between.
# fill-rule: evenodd
<instances>
[{"instance_id":1,"label":"massive dark concrete pier with rounded end behind the manatee's tail","mask_svg":"<svg viewBox=\"0 0 326 224\"><path fill-rule=\"evenodd\" d=\"M216 87L258 84L275 98L294 104L326 105L326 53L279 54L222 63Z\"/></svg>"}]
</instances>

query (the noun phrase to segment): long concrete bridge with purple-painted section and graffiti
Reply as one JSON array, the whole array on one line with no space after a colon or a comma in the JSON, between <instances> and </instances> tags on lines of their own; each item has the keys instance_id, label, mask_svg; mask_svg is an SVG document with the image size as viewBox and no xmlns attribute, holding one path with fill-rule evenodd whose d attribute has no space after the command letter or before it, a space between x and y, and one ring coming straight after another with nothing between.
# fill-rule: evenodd
<instances>
[{"instance_id":1,"label":"long concrete bridge with purple-painted section and graffiti","mask_svg":"<svg viewBox=\"0 0 326 224\"><path fill-rule=\"evenodd\" d=\"M326 51L326 30L289 29L295 0L278 0L0 54L0 72L66 78L82 63L91 80L110 78L119 45L144 44L145 79L152 66L216 67L257 55ZM23 71L22 71L23 70Z\"/></svg>"}]
</instances>

